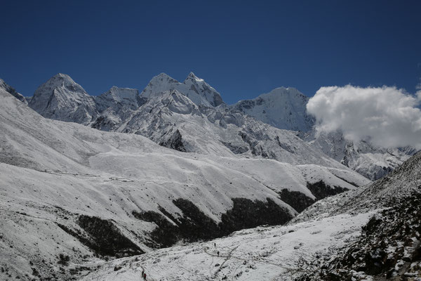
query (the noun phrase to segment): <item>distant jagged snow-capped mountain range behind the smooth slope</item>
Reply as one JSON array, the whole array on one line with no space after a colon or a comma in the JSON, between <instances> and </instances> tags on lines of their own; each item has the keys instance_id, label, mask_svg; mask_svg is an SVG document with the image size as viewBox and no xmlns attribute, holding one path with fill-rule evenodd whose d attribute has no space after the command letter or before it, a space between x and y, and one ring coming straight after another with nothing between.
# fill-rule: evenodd
<instances>
[{"instance_id":1,"label":"distant jagged snow-capped mountain range behind the smooth slope","mask_svg":"<svg viewBox=\"0 0 421 281\"><path fill-rule=\"evenodd\" d=\"M291 157L297 149L292 143L302 142L293 141L295 134L311 150L321 150L370 180L385 176L415 152L353 143L340 132L316 133L315 120L306 110L308 100L297 89L281 87L227 105L218 91L192 72L182 83L161 73L140 94L113 86L100 96L89 96L68 75L57 74L39 86L29 107L46 118L136 133L184 152L234 153L297 164ZM290 140L282 141L276 129L290 131L282 133L291 135ZM322 162L324 158L319 157Z\"/></svg>"}]
</instances>

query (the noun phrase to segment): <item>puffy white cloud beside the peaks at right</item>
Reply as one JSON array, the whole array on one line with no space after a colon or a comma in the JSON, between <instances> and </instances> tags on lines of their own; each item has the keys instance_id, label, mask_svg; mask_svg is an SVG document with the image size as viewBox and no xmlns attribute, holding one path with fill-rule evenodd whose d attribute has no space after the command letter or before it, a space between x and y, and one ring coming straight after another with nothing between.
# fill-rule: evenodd
<instances>
[{"instance_id":1,"label":"puffy white cloud beside the peaks at right","mask_svg":"<svg viewBox=\"0 0 421 281\"><path fill-rule=\"evenodd\" d=\"M307 103L317 131L344 133L350 141L382 147L421 149L421 91L411 96L395 87L321 87Z\"/></svg>"}]
</instances>

